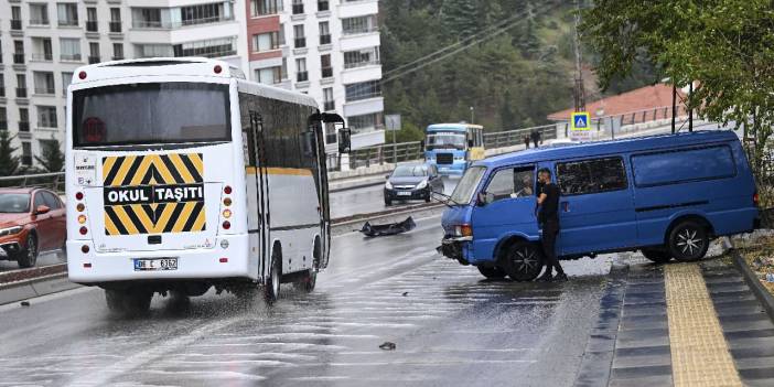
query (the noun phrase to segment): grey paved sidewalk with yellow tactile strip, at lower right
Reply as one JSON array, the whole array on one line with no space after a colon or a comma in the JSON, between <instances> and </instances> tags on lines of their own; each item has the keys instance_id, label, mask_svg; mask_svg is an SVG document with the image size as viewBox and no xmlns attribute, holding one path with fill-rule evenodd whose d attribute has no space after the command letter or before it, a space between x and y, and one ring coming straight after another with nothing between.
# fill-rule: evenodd
<instances>
[{"instance_id":1,"label":"grey paved sidewalk with yellow tactile strip, at lower right","mask_svg":"<svg viewBox=\"0 0 774 387\"><path fill-rule=\"evenodd\" d=\"M627 259L577 386L774 386L774 323L727 259Z\"/></svg>"}]
</instances>

